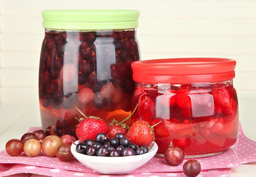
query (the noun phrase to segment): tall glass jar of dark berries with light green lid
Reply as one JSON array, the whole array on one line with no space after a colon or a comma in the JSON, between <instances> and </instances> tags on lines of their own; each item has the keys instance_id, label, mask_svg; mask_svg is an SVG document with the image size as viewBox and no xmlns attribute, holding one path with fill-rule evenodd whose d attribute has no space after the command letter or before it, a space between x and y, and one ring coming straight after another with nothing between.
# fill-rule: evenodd
<instances>
[{"instance_id":1,"label":"tall glass jar of dark berries with light green lid","mask_svg":"<svg viewBox=\"0 0 256 177\"><path fill-rule=\"evenodd\" d=\"M109 121L130 114L139 60L136 10L43 11L39 101L43 130L75 135L81 114ZM129 122L126 122L129 124Z\"/></svg>"}]
</instances>

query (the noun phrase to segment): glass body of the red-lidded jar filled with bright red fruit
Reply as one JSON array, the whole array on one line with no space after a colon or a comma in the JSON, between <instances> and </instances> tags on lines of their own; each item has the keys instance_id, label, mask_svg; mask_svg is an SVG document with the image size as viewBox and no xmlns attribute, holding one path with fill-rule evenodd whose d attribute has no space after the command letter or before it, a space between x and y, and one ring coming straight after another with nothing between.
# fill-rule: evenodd
<instances>
[{"instance_id":1,"label":"glass body of the red-lidded jar filled with bright red fruit","mask_svg":"<svg viewBox=\"0 0 256 177\"><path fill-rule=\"evenodd\" d=\"M186 156L213 155L236 143L238 100L232 79L214 83L136 82L132 121L154 125L157 154L162 156L172 141Z\"/></svg>"}]
</instances>

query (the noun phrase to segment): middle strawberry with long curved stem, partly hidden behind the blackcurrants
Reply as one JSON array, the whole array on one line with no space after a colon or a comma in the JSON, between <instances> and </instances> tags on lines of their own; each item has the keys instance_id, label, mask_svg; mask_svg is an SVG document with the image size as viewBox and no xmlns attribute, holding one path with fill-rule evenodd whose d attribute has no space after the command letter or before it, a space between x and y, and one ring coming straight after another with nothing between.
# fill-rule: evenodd
<instances>
[{"instance_id":1,"label":"middle strawberry with long curved stem, partly hidden behind the blackcurrants","mask_svg":"<svg viewBox=\"0 0 256 177\"><path fill-rule=\"evenodd\" d=\"M109 138L115 137L115 135L117 133L122 133L122 134L126 135L126 133L128 132L130 127L128 125L126 125L124 122L127 121L132 116L132 114L135 112L137 107L138 107L138 104L136 105L136 107L134 108L132 113L123 121L119 122L119 121L113 119L112 121L110 121L108 123L107 135Z\"/></svg>"}]
</instances>

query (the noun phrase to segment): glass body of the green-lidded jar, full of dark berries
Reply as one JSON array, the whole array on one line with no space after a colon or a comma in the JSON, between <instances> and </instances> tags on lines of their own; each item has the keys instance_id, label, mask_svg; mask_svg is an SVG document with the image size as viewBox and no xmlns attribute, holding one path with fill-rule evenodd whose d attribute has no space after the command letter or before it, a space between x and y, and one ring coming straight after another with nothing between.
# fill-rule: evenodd
<instances>
[{"instance_id":1,"label":"glass body of the green-lidded jar, full of dark berries","mask_svg":"<svg viewBox=\"0 0 256 177\"><path fill-rule=\"evenodd\" d=\"M76 114L75 106L102 119L110 111L130 112L134 90L130 65L136 60L133 29L46 31L39 68L43 129L52 126L58 136L74 135L76 122L70 115Z\"/></svg>"}]
</instances>

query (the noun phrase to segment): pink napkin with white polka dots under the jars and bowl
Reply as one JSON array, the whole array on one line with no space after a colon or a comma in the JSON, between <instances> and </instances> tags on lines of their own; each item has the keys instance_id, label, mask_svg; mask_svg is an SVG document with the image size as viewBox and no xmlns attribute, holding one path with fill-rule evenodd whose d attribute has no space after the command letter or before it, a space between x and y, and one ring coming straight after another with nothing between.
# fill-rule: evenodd
<instances>
[{"instance_id":1,"label":"pink napkin with white polka dots under the jars and bowl","mask_svg":"<svg viewBox=\"0 0 256 177\"><path fill-rule=\"evenodd\" d=\"M39 128L30 128L32 132ZM73 159L69 162L63 162L56 157L47 157L40 153L37 157L27 157L22 153L18 157L9 156L5 150L0 152L0 176L8 176L18 173L31 173L38 175L47 175L55 177L184 177L182 166L185 159L179 166L169 166L164 158L153 157L144 166L141 166L131 174L126 175L102 175L92 169L83 166L79 161ZM248 139L240 126L238 141L235 146L226 152L211 157L197 158L202 166L200 177L228 177L231 168L240 166L243 163L256 161L256 142Z\"/></svg>"}]
</instances>

